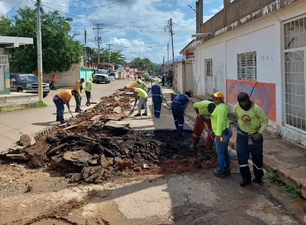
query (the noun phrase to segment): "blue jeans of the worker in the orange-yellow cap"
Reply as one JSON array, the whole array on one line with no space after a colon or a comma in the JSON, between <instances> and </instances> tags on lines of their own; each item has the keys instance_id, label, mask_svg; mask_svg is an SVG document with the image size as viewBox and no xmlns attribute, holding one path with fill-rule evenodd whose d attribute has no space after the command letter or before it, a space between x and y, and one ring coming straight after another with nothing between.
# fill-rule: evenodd
<instances>
[{"instance_id":1,"label":"blue jeans of the worker in the orange-yellow cap","mask_svg":"<svg viewBox=\"0 0 306 225\"><path fill-rule=\"evenodd\" d=\"M233 131L231 126L224 131L222 131L221 137L222 142L215 138L216 142L216 152L218 154L218 169L219 171L224 171L224 167L230 167L231 157L228 153L228 142L233 136Z\"/></svg>"}]
</instances>

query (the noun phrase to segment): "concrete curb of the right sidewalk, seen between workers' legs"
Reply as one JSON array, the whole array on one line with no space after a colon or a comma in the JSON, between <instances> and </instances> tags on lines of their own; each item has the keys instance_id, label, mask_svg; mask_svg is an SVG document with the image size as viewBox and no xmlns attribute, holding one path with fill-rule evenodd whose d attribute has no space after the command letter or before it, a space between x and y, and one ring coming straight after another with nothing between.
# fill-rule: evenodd
<instances>
[{"instance_id":1,"label":"concrete curb of the right sidewalk, seen between workers' legs","mask_svg":"<svg viewBox=\"0 0 306 225\"><path fill-rule=\"evenodd\" d=\"M166 105L166 104L163 104L163 105ZM171 107L171 103L170 104L167 103L166 108L170 109L169 107ZM189 115L188 113L185 113L185 118L189 122L192 122L194 124L195 118L192 117L191 115ZM203 131L203 133L205 133L205 131ZM205 137L203 134L202 134L202 136ZM230 140L230 142L228 143L228 146L233 149L232 153L234 153L237 156L237 153L236 153L237 144L236 144L236 142ZM249 165L252 165L251 159L249 160ZM294 178L288 176L286 174L286 171L280 171L278 168L275 168L275 167L270 166L269 164L265 163L265 161L263 163L263 167L265 168L266 171L273 170L277 174L279 179L281 179L281 181L283 183L296 187L298 190L301 191L302 196L304 198L306 198L306 186L304 186L302 183L295 180Z\"/></svg>"}]
</instances>

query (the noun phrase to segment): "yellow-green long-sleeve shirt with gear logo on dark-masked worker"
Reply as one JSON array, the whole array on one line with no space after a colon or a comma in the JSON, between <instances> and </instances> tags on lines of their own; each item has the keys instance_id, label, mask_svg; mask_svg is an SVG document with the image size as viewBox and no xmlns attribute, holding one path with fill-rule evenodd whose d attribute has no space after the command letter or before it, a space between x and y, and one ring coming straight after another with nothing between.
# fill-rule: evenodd
<instances>
[{"instance_id":1,"label":"yellow-green long-sleeve shirt with gear logo on dark-masked worker","mask_svg":"<svg viewBox=\"0 0 306 225\"><path fill-rule=\"evenodd\" d=\"M238 126L242 131L248 134L258 132L263 135L268 126L269 120L264 111L258 105L252 103L251 108L248 111L245 111L239 106L239 104L236 104L235 112Z\"/></svg>"}]
</instances>

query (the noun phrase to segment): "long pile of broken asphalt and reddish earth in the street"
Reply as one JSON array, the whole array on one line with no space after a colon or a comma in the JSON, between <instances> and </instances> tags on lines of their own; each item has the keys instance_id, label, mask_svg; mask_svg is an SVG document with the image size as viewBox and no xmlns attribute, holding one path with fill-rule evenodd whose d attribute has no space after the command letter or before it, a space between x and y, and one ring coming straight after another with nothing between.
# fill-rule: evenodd
<instances>
[{"instance_id":1,"label":"long pile of broken asphalt and reddish earth in the street","mask_svg":"<svg viewBox=\"0 0 306 225\"><path fill-rule=\"evenodd\" d=\"M182 137L174 130L131 130L129 122L123 120L123 111L130 110L132 102L133 93L126 91L103 97L94 108L70 120L68 127L38 138L36 144L18 153L7 154L6 160L61 171L69 183L100 183L138 172L215 167L213 151L203 147L190 150L190 130Z\"/></svg>"}]
</instances>

